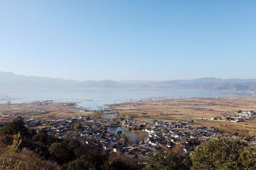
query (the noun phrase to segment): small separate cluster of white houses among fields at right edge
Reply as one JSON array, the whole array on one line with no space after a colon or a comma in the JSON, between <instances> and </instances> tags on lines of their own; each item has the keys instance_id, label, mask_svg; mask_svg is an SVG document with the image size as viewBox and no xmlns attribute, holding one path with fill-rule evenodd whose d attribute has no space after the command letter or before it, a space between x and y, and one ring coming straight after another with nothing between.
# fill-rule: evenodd
<instances>
[{"instance_id":1,"label":"small separate cluster of white houses among fields at right edge","mask_svg":"<svg viewBox=\"0 0 256 170\"><path fill-rule=\"evenodd\" d=\"M220 120L225 122L245 122L245 120L256 119L256 114L254 111L239 111L237 113L231 113L230 117L213 117L211 120Z\"/></svg>"}]
</instances>

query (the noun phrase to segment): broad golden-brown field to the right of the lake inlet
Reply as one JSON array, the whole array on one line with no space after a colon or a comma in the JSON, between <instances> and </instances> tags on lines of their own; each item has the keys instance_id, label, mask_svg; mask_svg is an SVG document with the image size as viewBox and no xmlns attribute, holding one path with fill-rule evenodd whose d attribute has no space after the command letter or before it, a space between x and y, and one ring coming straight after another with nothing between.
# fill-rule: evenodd
<instances>
[{"instance_id":1,"label":"broad golden-brown field to the right of the lake inlet","mask_svg":"<svg viewBox=\"0 0 256 170\"><path fill-rule=\"evenodd\" d=\"M193 119L197 125L256 136L256 120L237 123L209 120L211 117L228 116L238 110L256 111L256 97L172 99L115 104L111 108L113 111L118 111L120 115L130 115L138 120L163 118L166 121L186 121Z\"/></svg>"}]
</instances>

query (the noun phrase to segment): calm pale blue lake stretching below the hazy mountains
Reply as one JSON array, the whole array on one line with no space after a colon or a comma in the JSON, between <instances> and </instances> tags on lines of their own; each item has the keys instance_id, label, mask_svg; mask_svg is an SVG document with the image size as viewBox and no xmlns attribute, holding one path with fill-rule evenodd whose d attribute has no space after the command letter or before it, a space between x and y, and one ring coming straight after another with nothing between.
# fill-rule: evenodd
<instances>
[{"instance_id":1,"label":"calm pale blue lake stretching below the hazy mountains","mask_svg":"<svg viewBox=\"0 0 256 170\"><path fill-rule=\"evenodd\" d=\"M88 110L105 108L106 104L135 102L139 100L176 99L189 97L236 97L250 96L245 92L214 91L133 91L133 92L28 92L18 94L0 94L0 103L24 103L54 100L56 102L76 102Z\"/></svg>"}]
</instances>

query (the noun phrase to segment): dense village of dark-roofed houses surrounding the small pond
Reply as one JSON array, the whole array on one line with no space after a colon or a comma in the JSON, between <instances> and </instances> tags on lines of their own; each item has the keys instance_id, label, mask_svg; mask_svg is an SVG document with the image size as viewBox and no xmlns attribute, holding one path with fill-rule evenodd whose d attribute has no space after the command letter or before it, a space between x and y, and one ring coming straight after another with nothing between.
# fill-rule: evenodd
<instances>
[{"instance_id":1,"label":"dense village of dark-roofed houses surrounding the small pond","mask_svg":"<svg viewBox=\"0 0 256 170\"><path fill-rule=\"evenodd\" d=\"M143 131L147 136L140 143L129 143L120 138L118 134L108 131L106 125L113 125L113 120L97 120L84 118L57 120L51 129L55 129L58 138L76 138L85 146L101 148L105 152L122 152L127 158L138 158L145 162L146 155L150 152L168 150L175 144L180 144L184 152L193 152L192 145L195 141L206 141L217 135L212 127L191 127L193 120L188 122L164 122L164 120L151 120L137 122L136 120L124 120L122 125L127 127L145 127ZM118 125L119 123L116 123ZM79 131L74 127L80 125Z\"/></svg>"}]
</instances>

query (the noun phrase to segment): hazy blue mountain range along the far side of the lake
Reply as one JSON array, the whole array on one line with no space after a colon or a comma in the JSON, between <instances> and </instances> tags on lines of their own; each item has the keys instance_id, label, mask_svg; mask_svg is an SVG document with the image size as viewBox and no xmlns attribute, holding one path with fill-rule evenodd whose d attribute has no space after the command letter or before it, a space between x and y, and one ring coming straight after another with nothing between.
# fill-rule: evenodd
<instances>
[{"instance_id":1,"label":"hazy blue mountain range along the far side of the lake","mask_svg":"<svg viewBox=\"0 0 256 170\"><path fill-rule=\"evenodd\" d=\"M75 81L0 72L0 93L95 90L256 90L256 79L198 78L172 81Z\"/></svg>"}]
</instances>

